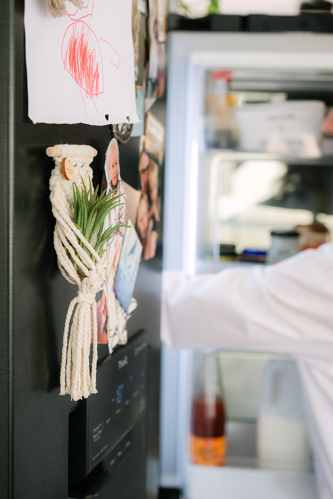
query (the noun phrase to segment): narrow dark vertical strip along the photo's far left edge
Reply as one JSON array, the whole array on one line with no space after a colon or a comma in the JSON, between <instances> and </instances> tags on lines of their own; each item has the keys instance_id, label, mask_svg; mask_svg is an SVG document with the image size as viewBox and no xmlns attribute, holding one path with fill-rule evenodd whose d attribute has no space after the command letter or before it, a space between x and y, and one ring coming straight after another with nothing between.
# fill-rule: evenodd
<instances>
[{"instance_id":1,"label":"narrow dark vertical strip along the photo's far left edge","mask_svg":"<svg viewBox=\"0 0 333 499\"><path fill-rule=\"evenodd\" d=\"M11 176L13 172L12 86L10 32L12 5L0 1L0 491L4 497L11 494L11 416L12 416L12 306L10 299L11 275Z\"/></svg>"}]
</instances>

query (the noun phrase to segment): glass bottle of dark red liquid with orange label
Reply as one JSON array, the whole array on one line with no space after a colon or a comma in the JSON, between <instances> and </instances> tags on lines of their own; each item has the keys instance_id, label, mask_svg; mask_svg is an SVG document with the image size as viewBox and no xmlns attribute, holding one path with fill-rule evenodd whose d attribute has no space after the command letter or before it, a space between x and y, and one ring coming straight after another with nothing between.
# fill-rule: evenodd
<instances>
[{"instance_id":1,"label":"glass bottle of dark red liquid with orange label","mask_svg":"<svg viewBox=\"0 0 333 499\"><path fill-rule=\"evenodd\" d=\"M217 352L196 353L194 372L190 458L192 463L199 465L223 466L226 416Z\"/></svg>"}]
</instances>

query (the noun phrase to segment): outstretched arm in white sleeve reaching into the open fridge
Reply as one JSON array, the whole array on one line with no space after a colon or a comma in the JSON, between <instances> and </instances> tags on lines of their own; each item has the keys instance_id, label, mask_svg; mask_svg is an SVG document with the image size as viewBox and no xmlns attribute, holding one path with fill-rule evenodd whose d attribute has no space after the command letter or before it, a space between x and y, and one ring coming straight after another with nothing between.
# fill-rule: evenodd
<instances>
[{"instance_id":1,"label":"outstretched arm in white sleeve reaching into the open fridge","mask_svg":"<svg viewBox=\"0 0 333 499\"><path fill-rule=\"evenodd\" d=\"M162 282L161 336L169 346L333 358L333 244L270 266L191 278L164 271Z\"/></svg>"}]
</instances>

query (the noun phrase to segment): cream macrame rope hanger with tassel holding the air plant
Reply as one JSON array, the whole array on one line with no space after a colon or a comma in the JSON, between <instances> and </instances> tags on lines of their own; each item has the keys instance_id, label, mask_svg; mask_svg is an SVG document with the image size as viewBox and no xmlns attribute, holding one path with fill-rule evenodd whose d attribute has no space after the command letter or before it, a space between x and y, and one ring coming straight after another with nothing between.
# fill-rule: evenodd
<instances>
[{"instance_id":1,"label":"cream macrame rope hanger with tassel holding the air plant","mask_svg":"<svg viewBox=\"0 0 333 499\"><path fill-rule=\"evenodd\" d=\"M89 189L89 176L92 179L92 170L89 165L94 156L94 149L90 146L68 144L60 144L54 147L60 148L62 152L60 157L53 157L55 165L49 181L52 213L56 220L53 235L54 248L62 275L68 282L77 284L78 286L77 296L70 302L68 307L63 332L60 395L69 393L72 400L79 400L82 397L88 397L90 393L97 393L97 318L95 294L103 282L106 257L103 256L101 258L75 227L72 221L74 214L72 182L66 180L61 171L62 159L69 158L74 166L73 182L77 184L81 191L82 177L85 186ZM91 252L96 260L95 262L81 248L77 238ZM73 260L81 268L85 277L79 277L66 250L68 250ZM93 353L90 375L91 310ZM69 324L73 311L74 315L67 346Z\"/></svg>"}]
</instances>

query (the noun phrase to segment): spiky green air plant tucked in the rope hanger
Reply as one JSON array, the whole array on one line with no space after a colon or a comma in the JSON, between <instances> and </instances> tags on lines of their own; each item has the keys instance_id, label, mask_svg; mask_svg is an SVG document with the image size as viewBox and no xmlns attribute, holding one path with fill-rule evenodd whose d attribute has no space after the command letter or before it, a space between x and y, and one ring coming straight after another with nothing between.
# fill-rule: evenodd
<instances>
[{"instance_id":1,"label":"spiky green air plant tucked in the rope hanger","mask_svg":"<svg viewBox=\"0 0 333 499\"><path fill-rule=\"evenodd\" d=\"M122 194L118 194L117 196L112 197L112 194L115 191L111 191L106 194L106 190L101 193L98 197L98 186L96 191L93 193L91 179L89 177L89 190L87 190L83 179L82 180L82 188L81 192L73 182L73 204L74 204L74 214L73 214L73 223L76 228L80 231L82 236L88 241L88 243L93 247L96 253L99 256L102 256L104 253L104 245L106 241L112 236L112 234L119 229L120 227L130 227L129 225L118 224L113 227L108 227L104 233L103 224L106 216L117 206L122 205L123 203L119 203ZM84 246L78 236L77 241L81 248L88 254L88 256L95 261L95 258L90 253L90 251ZM75 255L80 259L76 250ZM73 258L69 255L69 251L67 251L67 255L70 257L70 261L73 263L75 270L77 271L80 277L85 277L85 273L81 270L81 268L77 265Z\"/></svg>"}]
</instances>

